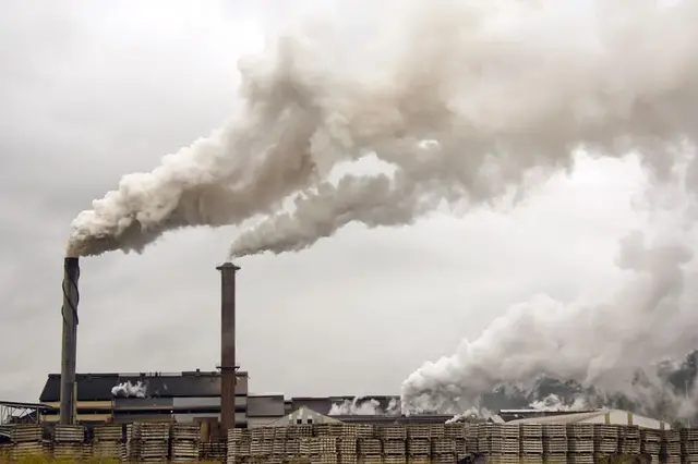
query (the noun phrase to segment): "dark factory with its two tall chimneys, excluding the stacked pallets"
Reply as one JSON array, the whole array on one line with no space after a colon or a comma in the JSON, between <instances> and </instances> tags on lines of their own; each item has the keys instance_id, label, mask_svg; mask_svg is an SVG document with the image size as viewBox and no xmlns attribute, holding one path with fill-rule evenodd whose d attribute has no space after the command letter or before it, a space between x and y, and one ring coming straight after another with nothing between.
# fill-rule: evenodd
<instances>
[{"instance_id":1,"label":"dark factory with its two tall chimneys, excluding the stacked pallets","mask_svg":"<svg viewBox=\"0 0 698 464\"><path fill-rule=\"evenodd\" d=\"M344 422L400 420L443 424L450 415L400 415L399 396L353 395L290 398L252 394L248 373L236 363L236 273L225 262L220 272L220 364L217 371L75 373L79 279L77 258L64 259L61 374L50 374L36 405L35 419L47 424L130 424L177 422L204 424L225 436L230 428L274 424L299 410ZM363 412L364 414L357 414ZM366 414L371 412L371 414ZM304 424L313 417L305 415Z\"/></svg>"}]
</instances>

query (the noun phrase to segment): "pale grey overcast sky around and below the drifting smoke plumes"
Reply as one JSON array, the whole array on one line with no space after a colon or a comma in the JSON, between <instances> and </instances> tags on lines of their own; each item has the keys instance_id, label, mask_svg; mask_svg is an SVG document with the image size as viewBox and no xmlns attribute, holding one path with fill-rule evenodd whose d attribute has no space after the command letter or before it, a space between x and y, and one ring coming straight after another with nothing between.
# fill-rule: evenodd
<instances>
[{"instance_id":1,"label":"pale grey overcast sky around and below the drifting smoke plumes","mask_svg":"<svg viewBox=\"0 0 698 464\"><path fill-rule=\"evenodd\" d=\"M236 107L237 59L284 26L290 2L249 3L2 2L0 399L36 401L60 371L71 220ZM350 225L302 253L241 260L238 356L251 390L397 394L509 305L602 286L617 240L638 225L641 187L631 160L586 160L514 211ZM186 230L143 255L83 259L77 370L213 370L215 266L236 233Z\"/></svg>"}]
</instances>

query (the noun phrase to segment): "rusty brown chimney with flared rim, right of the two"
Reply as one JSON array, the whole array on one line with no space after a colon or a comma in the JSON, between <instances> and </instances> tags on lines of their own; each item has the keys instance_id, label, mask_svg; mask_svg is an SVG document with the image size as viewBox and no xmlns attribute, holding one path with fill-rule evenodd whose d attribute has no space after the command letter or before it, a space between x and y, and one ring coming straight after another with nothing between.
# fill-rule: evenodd
<instances>
[{"instance_id":1,"label":"rusty brown chimney with flared rim, right of the two","mask_svg":"<svg viewBox=\"0 0 698 464\"><path fill-rule=\"evenodd\" d=\"M224 434L236 426L236 272L225 262L220 271L220 424Z\"/></svg>"}]
</instances>

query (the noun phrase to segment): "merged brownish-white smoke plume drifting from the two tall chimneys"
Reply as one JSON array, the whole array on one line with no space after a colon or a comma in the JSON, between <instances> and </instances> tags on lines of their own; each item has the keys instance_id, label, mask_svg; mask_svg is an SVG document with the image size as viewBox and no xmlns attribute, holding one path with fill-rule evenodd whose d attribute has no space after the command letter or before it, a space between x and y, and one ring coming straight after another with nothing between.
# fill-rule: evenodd
<instances>
[{"instance_id":1,"label":"merged brownish-white smoke plume drifting from the two tall chimneys","mask_svg":"<svg viewBox=\"0 0 698 464\"><path fill-rule=\"evenodd\" d=\"M309 23L241 61L229 125L83 211L68 253L141 252L167 230L267 213L231 254L300 249L350 221L492 200L530 169L569 167L577 148L635 150L661 178L698 126L698 4L674 3L581 14L550 0L386 0ZM369 152L397 179L325 182Z\"/></svg>"}]
</instances>

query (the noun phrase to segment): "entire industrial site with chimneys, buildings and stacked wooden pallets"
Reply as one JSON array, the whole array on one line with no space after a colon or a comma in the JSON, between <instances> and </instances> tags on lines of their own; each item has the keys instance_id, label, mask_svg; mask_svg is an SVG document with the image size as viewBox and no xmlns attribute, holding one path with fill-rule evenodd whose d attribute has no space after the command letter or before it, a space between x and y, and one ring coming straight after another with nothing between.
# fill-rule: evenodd
<instances>
[{"instance_id":1,"label":"entire industrial site with chimneys, buildings and stacked wooden pallets","mask_svg":"<svg viewBox=\"0 0 698 464\"><path fill-rule=\"evenodd\" d=\"M216 371L75 373L80 266L65 258L61 373L37 403L0 402L0 457L29 454L125 462L214 460L299 463L600 462L647 454L682 462L698 432L625 411L508 410L486 420L402 415L394 395L285 398L253 394L236 363L236 273L220 272L220 365ZM690 432L690 434L689 434ZM696 453L698 454L698 453Z\"/></svg>"}]
</instances>

